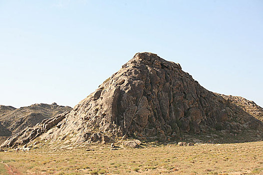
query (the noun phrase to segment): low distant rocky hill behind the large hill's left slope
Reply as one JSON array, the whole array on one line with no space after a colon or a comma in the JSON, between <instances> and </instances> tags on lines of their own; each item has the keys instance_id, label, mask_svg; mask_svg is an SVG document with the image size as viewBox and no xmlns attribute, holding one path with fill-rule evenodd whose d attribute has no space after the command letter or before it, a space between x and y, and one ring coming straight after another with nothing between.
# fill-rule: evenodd
<instances>
[{"instance_id":1,"label":"low distant rocky hill behind the large hill's left slope","mask_svg":"<svg viewBox=\"0 0 263 175\"><path fill-rule=\"evenodd\" d=\"M0 106L0 136L14 135L28 126L34 126L43 119L71 110L72 107L53 104L33 104L16 109Z\"/></svg>"}]
</instances>

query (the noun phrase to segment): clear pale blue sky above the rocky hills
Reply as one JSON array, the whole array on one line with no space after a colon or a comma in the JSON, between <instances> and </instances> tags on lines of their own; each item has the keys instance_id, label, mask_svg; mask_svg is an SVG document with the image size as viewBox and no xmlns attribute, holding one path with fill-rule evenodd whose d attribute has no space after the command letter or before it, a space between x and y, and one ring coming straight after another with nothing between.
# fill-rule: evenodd
<instances>
[{"instance_id":1,"label":"clear pale blue sky above the rocky hills","mask_svg":"<svg viewBox=\"0 0 263 175\"><path fill-rule=\"evenodd\" d=\"M0 104L74 106L142 51L263 106L262 0L0 0Z\"/></svg>"}]
</instances>

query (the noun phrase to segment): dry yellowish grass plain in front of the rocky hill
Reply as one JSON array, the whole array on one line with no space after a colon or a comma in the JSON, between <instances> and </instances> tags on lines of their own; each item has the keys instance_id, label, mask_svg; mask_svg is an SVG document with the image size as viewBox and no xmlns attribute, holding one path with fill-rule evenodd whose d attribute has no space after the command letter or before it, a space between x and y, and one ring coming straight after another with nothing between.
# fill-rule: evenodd
<instances>
[{"instance_id":1,"label":"dry yellowish grass plain in front of the rocky hill","mask_svg":"<svg viewBox=\"0 0 263 175\"><path fill-rule=\"evenodd\" d=\"M95 151L44 147L19 154L0 152L0 173L5 163L22 174L263 174L263 141L92 148Z\"/></svg>"}]
</instances>

